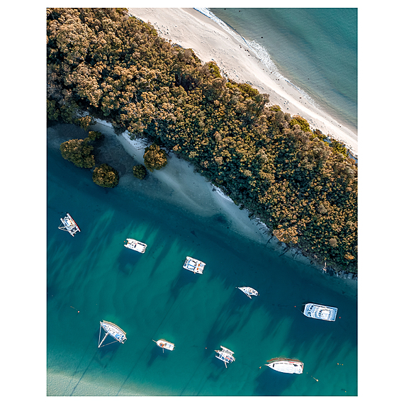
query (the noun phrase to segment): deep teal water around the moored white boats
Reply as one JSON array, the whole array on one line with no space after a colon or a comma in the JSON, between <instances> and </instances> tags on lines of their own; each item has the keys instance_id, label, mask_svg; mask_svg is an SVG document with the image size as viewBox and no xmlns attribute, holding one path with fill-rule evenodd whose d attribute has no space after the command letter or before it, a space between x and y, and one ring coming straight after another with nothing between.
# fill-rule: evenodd
<instances>
[{"instance_id":1,"label":"deep teal water around the moored white boats","mask_svg":"<svg viewBox=\"0 0 404 404\"><path fill-rule=\"evenodd\" d=\"M357 298L218 215L134 191L130 173L115 189L96 186L52 140L76 135L66 128L49 130L47 150L48 395L357 395ZM57 229L65 211L75 237ZM125 249L126 237L145 254ZM187 255L206 262L203 275L182 268ZM308 301L336 306L337 320L305 318ZM98 349L100 320L123 328L125 344ZM235 352L228 369L220 345ZM303 374L263 366L273 357L303 361Z\"/></svg>"}]
</instances>

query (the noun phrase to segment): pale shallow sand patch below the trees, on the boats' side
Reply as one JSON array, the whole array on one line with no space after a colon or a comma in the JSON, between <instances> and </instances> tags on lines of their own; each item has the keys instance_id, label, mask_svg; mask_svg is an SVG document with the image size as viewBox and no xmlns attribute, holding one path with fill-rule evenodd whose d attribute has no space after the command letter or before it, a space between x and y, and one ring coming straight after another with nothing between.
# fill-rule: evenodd
<instances>
[{"instance_id":1,"label":"pale shallow sand patch below the trees, on the boats' side","mask_svg":"<svg viewBox=\"0 0 404 404\"><path fill-rule=\"evenodd\" d=\"M116 136L111 123L104 120L96 120L94 130L99 130L105 135L111 135L120 141L128 154L133 157L134 164L144 164L143 155L147 142L143 139L130 140L128 132ZM162 169L149 172L143 181L136 181L138 191L170 203L184 211L201 218L209 218L213 215L221 215L226 220L230 230L247 237L254 242L266 244L270 235L267 228L259 220L251 220L248 211L240 210L238 206L216 186L211 184L201 174L194 172L191 163L180 159L173 153L167 157L168 164ZM120 177L120 186L130 187L134 183L131 172ZM275 237L271 240L271 247L276 247Z\"/></svg>"}]
</instances>

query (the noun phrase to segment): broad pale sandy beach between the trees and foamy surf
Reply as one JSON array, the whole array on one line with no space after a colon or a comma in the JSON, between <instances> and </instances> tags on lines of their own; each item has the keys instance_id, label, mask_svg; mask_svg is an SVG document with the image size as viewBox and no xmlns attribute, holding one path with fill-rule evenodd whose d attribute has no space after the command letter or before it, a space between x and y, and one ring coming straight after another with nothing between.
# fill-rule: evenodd
<instances>
[{"instance_id":1,"label":"broad pale sandy beach between the trees and foamy surf","mask_svg":"<svg viewBox=\"0 0 404 404\"><path fill-rule=\"evenodd\" d=\"M135 9L129 13L150 22L162 38L181 47L192 48L203 62L214 60L223 75L236 82L249 83L259 92L269 94L269 102L282 111L303 116L313 129L344 142L358 156L357 133L310 104L286 79L270 72L237 33L230 34L195 9ZM237 38L238 37L238 38Z\"/></svg>"}]
</instances>

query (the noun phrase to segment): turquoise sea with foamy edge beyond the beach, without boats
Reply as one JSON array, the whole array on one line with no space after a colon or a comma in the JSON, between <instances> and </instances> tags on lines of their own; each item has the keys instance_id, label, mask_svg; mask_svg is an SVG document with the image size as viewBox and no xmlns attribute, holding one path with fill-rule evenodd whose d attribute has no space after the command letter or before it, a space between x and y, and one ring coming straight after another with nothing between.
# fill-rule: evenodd
<instances>
[{"instance_id":1,"label":"turquoise sea with foamy edge beyond the beach, without boats","mask_svg":"<svg viewBox=\"0 0 404 404\"><path fill-rule=\"evenodd\" d=\"M201 9L207 10L242 35L271 71L357 132L357 9Z\"/></svg>"}]
</instances>

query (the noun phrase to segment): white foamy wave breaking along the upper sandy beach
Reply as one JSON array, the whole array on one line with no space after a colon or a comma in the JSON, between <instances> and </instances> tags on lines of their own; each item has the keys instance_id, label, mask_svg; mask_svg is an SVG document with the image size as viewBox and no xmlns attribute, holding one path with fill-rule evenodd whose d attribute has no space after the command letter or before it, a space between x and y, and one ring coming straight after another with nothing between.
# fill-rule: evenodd
<instances>
[{"instance_id":1,"label":"white foamy wave breaking along the upper sandy beach","mask_svg":"<svg viewBox=\"0 0 404 404\"><path fill-rule=\"evenodd\" d=\"M301 88L293 84L290 80L286 79L278 70L276 67L276 64L274 63L273 60L271 60L271 56L269 55L269 51L261 45L260 43L257 43L256 40L247 40L245 39L242 35L237 33L234 29L232 29L230 26L228 26L227 23L225 23L223 20L220 20L215 14L212 13L211 10L205 8L205 7L194 7L193 8L196 11L199 11L202 13L204 16L211 18L212 21L215 21L215 23L220 26L220 28L223 28L227 33L230 33L235 40L238 40L240 43L244 43L249 47L250 50L259 58L259 60L264 64L264 66L273 74L275 74L276 77L278 77L280 80L284 80L291 86L293 86L301 96L305 100L307 100L311 105L315 106L316 108L319 108L318 104L315 103L315 101L307 94L305 91L303 91Z\"/></svg>"}]
</instances>

